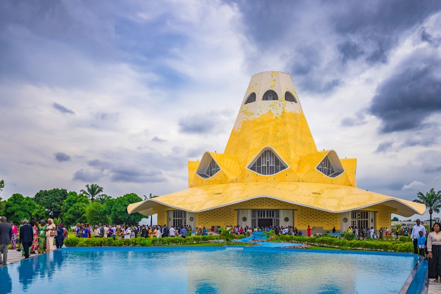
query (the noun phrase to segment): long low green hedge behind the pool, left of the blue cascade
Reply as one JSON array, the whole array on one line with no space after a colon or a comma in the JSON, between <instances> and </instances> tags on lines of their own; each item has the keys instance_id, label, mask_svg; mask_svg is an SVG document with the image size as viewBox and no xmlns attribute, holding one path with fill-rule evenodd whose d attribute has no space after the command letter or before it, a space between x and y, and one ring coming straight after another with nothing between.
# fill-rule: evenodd
<instances>
[{"instance_id":1,"label":"long low green hedge behind the pool, left of the blue cascade","mask_svg":"<svg viewBox=\"0 0 441 294\"><path fill-rule=\"evenodd\" d=\"M129 238L114 240L113 238L77 238L70 237L66 240L68 247L97 247L97 246L152 246L152 245L174 245L203 243L209 240L218 239L216 235L163 237L163 238Z\"/></svg>"}]
</instances>

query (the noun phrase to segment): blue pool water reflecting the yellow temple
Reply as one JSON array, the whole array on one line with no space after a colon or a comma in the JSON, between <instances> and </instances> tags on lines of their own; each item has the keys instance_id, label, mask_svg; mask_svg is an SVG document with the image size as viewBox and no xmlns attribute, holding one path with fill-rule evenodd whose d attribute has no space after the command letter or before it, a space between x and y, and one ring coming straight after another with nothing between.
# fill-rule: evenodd
<instances>
[{"instance_id":1,"label":"blue pool water reflecting the yellow temple","mask_svg":"<svg viewBox=\"0 0 441 294\"><path fill-rule=\"evenodd\" d=\"M410 253L72 247L0 268L0 293L397 293Z\"/></svg>"}]
</instances>

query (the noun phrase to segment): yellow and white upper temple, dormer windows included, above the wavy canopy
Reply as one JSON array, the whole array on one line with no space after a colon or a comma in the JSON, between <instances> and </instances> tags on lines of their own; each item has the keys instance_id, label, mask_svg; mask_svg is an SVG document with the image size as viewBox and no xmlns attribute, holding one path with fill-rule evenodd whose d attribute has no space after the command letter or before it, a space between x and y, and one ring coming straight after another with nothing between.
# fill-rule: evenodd
<instances>
[{"instance_id":1,"label":"yellow and white upper temple, dormer windows included, above the wavy canopy","mask_svg":"<svg viewBox=\"0 0 441 294\"><path fill-rule=\"evenodd\" d=\"M356 186L356 159L317 151L291 77L252 76L224 153L188 162L188 186L228 182L323 182ZM348 172L345 172L348 171Z\"/></svg>"}]
</instances>

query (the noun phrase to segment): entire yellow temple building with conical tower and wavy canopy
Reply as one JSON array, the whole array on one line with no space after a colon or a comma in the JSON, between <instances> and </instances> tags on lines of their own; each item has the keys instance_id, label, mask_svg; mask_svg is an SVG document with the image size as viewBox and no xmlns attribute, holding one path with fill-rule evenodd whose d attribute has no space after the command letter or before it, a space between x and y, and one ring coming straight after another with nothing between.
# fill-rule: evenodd
<instances>
[{"instance_id":1,"label":"entire yellow temple building with conical tower and wavy canopy","mask_svg":"<svg viewBox=\"0 0 441 294\"><path fill-rule=\"evenodd\" d=\"M390 227L391 213L424 213L424 204L357 188L357 160L318 151L291 77L252 76L224 153L188 161L188 188L132 203L158 224L191 227L293 226L313 233Z\"/></svg>"}]
</instances>

